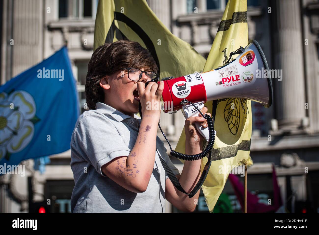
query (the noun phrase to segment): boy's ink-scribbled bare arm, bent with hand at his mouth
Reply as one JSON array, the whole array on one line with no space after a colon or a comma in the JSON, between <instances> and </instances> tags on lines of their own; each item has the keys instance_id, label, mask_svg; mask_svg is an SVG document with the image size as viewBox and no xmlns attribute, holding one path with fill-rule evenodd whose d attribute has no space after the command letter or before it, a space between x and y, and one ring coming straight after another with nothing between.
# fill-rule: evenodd
<instances>
[{"instance_id":1,"label":"boy's ink-scribbled bare arm, bent with hand at his mouth","mask_svg":"<svg viewBox=\"0 0 319 235\"><path fill-rule=\"evenodd\" d=\"M115 158L101 167L105 175L123 188L135 193L145 192L152 176L161 109L154 110L147 107L149 102L160 104L163 89L163 81L159 85L150 82L146 88L144 82L137 82L143 116L135 145L128 157Z\"/></svg>"}]
</instances>

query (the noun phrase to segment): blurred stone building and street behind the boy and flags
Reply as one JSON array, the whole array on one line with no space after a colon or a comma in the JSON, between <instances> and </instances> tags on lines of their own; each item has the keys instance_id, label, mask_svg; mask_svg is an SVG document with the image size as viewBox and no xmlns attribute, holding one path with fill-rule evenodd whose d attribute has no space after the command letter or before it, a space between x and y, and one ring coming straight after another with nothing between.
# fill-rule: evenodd
<instances>
[{"instance_id":1,"label":"blurred stone building and street behind the boy and flags","mask_svg":"<svg viewBox=\"0 0 319 235\"><path fill-rule=\"evenodd\" d=\"M248 168L248 190L260 203L267 204L274 193L274 164L283 212L318 213L319 2L247 2L249 39L259 42L270 69L282 70L282 80L273 80L271 108L264 109L252 102L250 155L254 164ZM174 35L205 58L208 56L227 0L147 0L147 3ZM67 44L77 80L79 107L83 107L97 5L98 0L0 1L1 85ZM85 39L87 43L83 43ZM82 108L81 113L84 111ZM184 121L181 112L161 114L161 127L173 149ZM160 132L158 136L167 144ZM166 148L169 149L168 145ZM30 159L23 162L26 177L0 176L0 212L69 213L74 187L70 160L70 151ZM172 158L172 162L182 172L183 165L177 159ZM50 206L45 203L47 198L52 200ZM166 212L180 211L167 201ZM203 193L195 212L208 213ZM242 213L229 180L214 212Z\"/></svg>"}]
</instances>

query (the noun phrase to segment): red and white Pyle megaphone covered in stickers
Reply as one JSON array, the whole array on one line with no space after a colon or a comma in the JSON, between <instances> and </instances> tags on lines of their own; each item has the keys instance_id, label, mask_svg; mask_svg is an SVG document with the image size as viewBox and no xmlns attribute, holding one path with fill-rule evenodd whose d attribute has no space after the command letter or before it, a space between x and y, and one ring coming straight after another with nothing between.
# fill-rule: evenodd
<instances>
[{"instance_id":1,"label":"red and white Pyle megaphone covered in stickers","mask_svg":"<svg viewBox=\"0 0 319 235\"><path fill-rule=\"evenodd\" d=\"M239 54L231 60L231 56ZM257 74L264 74L257 78ZM216 69L192 73L182 77L164 78L162 110L173 113L182 110L187 119L198 116L207 101L241 98L256 101L269 108L272 103L272 84L269 68L261 47L250 40L245 48L231 52L226 64ZM189 103L192 104L189 104ZM194 107L194 105L198 110ZM196 123L197 130L209 140L208 127Z\"/></svg>"}]
</instances>

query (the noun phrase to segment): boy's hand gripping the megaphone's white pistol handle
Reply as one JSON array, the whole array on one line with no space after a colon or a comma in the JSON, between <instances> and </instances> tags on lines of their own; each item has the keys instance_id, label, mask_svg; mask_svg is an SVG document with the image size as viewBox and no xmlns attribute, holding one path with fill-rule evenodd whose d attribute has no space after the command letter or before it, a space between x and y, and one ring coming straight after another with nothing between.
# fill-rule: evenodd
<instances>
[{"instance_id":1,"label":"boy's hand gripping the megaphone's white pistol handle","mask_svg":"<svg viewBox=\"0 0 319 235\"><path fill-rule=\"evenodd\" d=\"M204 106L201 109L201 112L203 113L203 115L205 115L207 110L208 109L206 106ZM210 113L207 113L207 114L209 116L211 116ZM208 127L207 120L204 117L202 117L202 115L200 113L198 113L198 116L193 116L193 117L189 117L188 119L186 119L185 126L184 126L185 136L186 136L186 144L200 145L201 146L203 144L204 137L197 131L196 126L195 126L196 122L199 122L204 127Z\"/></svg>"}]
</instances>

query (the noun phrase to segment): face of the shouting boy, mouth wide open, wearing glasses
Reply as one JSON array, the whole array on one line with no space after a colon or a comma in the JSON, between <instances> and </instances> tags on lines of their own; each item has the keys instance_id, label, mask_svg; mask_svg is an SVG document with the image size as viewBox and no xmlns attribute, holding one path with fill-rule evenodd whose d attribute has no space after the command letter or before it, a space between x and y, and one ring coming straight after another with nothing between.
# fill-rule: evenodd
<instances>
[{"instance_id":1,"label":"face of the shouting boy, mouth wide open, wearing glasses","mask_svg":"<svg viewBox=\"0 0 319 235\"><path fill-rule=\"evenodd\" d=\"M141 68L142 71L150 71L149 68ZM151 79L142 73L139 81L147 82ZM137 82L128 77L127 70L119 70L106 78L101 79L100 86L104 88L104 102L120 112L134 117L138 113Z\"/></svg>"}]
</instances>

